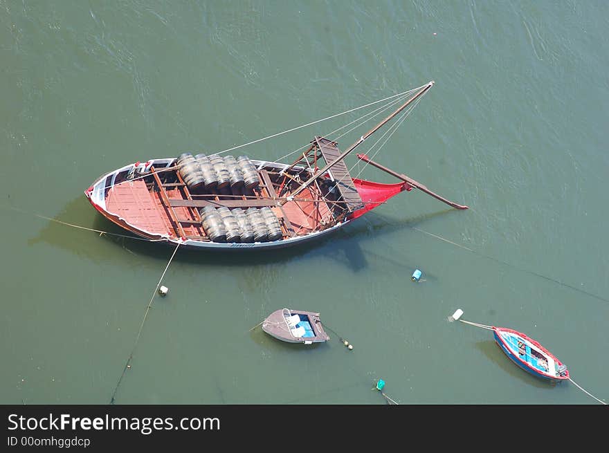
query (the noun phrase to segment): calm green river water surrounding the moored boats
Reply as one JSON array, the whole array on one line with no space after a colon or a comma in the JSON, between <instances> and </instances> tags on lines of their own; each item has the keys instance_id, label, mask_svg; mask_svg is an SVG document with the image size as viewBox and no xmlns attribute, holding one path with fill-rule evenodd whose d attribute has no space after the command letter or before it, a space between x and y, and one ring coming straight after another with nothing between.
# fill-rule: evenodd
<instances>
[{"instance_id":1,"label":"calm green river water surrounding the moored boats","mask_svg":"<svg viewBox=\"0 0 609 453\"><path fill-rule=\"evenodd\" d=\"M109 403L172 253L40 216L120 233L83 194L104 172L429 80L375 160L471 209L413 190L293 250L179 250L116 403L384 404L383 378L401 404L599 404L448 322L457 308L609 400L608 26L605 1L0 1L0 402ZM336 124L246 152L278 158ZM249 331L284 306L353 351Z\"/></svg>"}]
</instances>

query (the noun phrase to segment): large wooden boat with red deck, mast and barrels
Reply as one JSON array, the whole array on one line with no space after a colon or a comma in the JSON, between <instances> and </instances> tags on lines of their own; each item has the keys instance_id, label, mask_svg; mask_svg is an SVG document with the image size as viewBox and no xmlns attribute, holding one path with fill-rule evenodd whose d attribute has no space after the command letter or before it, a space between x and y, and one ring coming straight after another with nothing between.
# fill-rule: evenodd
<instances>
[{"instance_id":1,"label":"large wooden boat with red deck, mast and barrels","mask_svg":"<svg viewBox=\"0 0 609 453\"><path fill-rule=\"evenodd\" d=\"M414 108L431 86L433 82L405 92L398 99L406 102L343 152L338 142L315 136L292 163L220 156L226 151L183 153L120 167L100 176L84 194L103 216L139 237L200 250L278 248L325 237L412 187L466 209L365 154L358 158L401 182L353 177L344 162L403 112L396 123L401 124L410 113L405 109Z\"/></svg>"}]
</instances>

